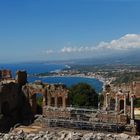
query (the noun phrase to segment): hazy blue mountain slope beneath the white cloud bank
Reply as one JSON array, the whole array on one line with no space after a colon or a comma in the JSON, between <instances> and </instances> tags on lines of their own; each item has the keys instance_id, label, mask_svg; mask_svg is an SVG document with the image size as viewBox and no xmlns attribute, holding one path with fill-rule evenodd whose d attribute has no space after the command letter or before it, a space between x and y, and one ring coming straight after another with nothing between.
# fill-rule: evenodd
<instances>
[{"instance_id":1,"label":"hazy blue mountain slope beneath the white cloud bank","mask_svg":"<svg viewBox=\"0 0 140 140\"><path fill-rule=\"evenodd\" d=\"M110 56L73 59L63 61L50 61L49 63L63 63L63 64L84 64L84 65L98 65L98 64L138 64L140 65L140 52L134 51L127 54L116 54Z\"/></svg>"}]
</instances>

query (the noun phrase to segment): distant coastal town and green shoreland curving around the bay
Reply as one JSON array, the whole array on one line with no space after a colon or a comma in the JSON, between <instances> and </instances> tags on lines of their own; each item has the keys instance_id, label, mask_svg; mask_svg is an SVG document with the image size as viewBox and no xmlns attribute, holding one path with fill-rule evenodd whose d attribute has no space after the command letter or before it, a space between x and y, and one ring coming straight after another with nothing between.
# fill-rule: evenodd
<instances>
[{"instance_id":1,"label":"distant coastal town and green shoreland curving around the bay","mask_svg":"<svg viewBox=\"0 0 140 140\"><path fill-rule=\"evenodd\" d=\"M66 69L56 70L44 73L34 73L29 76L42 77L83 77L95 78L106 84L122 84L132 81L140 81L140 67L132 65L116 65L116 66L74 66L66 65ZM125 75L127 74L127 75ZM123 81L121 77L125 78ZM126 76L128 79L126 79Z\"/></svg>"}]
</instances>

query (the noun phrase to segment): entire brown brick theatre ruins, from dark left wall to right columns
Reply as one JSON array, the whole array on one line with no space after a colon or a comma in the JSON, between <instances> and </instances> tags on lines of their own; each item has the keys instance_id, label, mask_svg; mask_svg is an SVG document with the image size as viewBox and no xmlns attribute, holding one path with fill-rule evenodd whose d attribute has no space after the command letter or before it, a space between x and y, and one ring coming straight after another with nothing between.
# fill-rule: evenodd
<instances>
[{"instance_id":1,"label":"entire brown brick theatre ruins, from dark left wall to right columns","mask_svg":"<svg viewBox=\"0 0 140 140\"><path fill-rule=\"evenodd\" d=\"M108 86L102 93L102 108L74 108L68 106L68 90L65 85L41 81L27 83L25 71L17 71L16 78L12 79L11 71L1 70L0 128L11 127L17 122L31 122L33 116L38 114L37 96L41 95L44 126L117 132L127 128L135 131L133 101L134 97L140 95L139 87L138 83Z\"/></svg>"}]
</instances>

